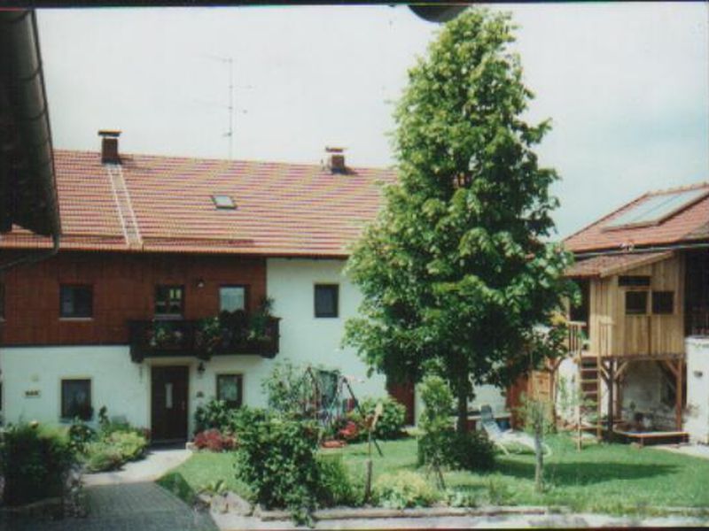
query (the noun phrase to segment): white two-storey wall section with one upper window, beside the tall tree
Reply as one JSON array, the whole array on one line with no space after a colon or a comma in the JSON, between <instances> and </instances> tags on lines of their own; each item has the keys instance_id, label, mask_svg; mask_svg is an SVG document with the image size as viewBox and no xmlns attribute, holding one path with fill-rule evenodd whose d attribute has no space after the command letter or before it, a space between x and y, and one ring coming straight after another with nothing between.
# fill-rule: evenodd
<instances>
[{"instance_id":1,"label":"white two-storey wall section with one upper window, beside the tall tree","mask_svg":"<svg viewBox=\"0 0 709 531\"><path fill-rule=\"evenodd\" d=\"M353 349L341 349L345 321L357 314L359 290L342 273L344 260L269 258L266 287L281 320L280 352L276 358L294 364L339 369L350 378L357 398L386 395L382 374L367 377L367 366ZM316 318L316 284L339 284L339 316Z\"/></svg>"}]
</instances>

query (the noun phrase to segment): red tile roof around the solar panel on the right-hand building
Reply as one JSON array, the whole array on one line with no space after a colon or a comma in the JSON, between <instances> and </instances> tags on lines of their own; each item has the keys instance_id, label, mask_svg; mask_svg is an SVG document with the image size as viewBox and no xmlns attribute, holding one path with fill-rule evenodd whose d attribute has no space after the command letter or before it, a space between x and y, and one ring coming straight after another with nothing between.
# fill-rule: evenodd
<instances>
[{"instance_id":1,"label":"red tile roof around the solar panel on the right-hand building","mask_svg":"<svg viewBox=\"0 0 709 531\"><path fill-rule=\"evenodd\" d=\"M651 196L660 196L672 192L705 189L709 194L709 182L703 182L681 189L669 189L650 192L638 197L617 211L598 219L588 227L567 237L565 248L575 253L592 250L619 250L651 245L672 245L709 238L709 195L702 196L694 203L686 205L679 212L674 212L659 223L643 227L608 228L606 224L630 211L637 204Z\"/></svg>"}]
</instances>

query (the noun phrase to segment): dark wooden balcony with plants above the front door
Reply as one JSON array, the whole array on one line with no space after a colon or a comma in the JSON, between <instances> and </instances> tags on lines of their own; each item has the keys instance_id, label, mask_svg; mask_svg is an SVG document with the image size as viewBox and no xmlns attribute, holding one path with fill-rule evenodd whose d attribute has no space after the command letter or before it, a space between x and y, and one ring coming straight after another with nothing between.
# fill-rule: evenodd
<instances>
[{"instance_id":1,"label":"dark wooden balcony with plants above the front door","mask_svg":"<svg viewBox=\"0 0 709 531\"><path fill-rule=\"evenodd\" d=\"M274 358L278 353L279 331L275 317L264 319L259 329L224 326L218 319L131 320L130 358L194 356L209 359L227 354L257 354Z\"/></svg>"}]
</instances>

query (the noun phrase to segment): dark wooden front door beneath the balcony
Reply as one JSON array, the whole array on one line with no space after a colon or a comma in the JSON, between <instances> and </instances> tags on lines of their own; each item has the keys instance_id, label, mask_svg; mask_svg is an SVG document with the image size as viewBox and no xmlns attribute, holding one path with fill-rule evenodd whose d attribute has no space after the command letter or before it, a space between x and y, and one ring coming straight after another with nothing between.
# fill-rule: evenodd
<instances>
[{"instance_id":1,"label":"dark wooden front door beneath the balcony","mask_svg":"<svg viewBox=\"0 0 709 531\"><path fill-rule=\"evenodd\" d=\"M152 367L152 440L187 439L187 381L184 366Z\"/></svg>"}]
</instances>

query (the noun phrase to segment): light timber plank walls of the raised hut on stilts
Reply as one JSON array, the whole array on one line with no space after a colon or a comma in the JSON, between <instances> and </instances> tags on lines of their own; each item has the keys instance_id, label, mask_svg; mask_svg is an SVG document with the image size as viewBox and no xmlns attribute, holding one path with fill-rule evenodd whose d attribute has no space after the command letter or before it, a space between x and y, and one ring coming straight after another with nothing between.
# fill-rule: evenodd
<instances>
[{"instance_id":1,"label":"light timber plank walls of the raised hut on stilts","mask_svg":"<svg viewBox=\"0 0 709 531\"><path fill-rule=\"evenodd\" d=\"M622 275L651 277L650 287L619 286L619 275L591 281L590 350L605 356L665 357L684 352L684 262L680 254ZM643 315L626 315L627 291L646 291ZM672 291L674 311L652 313L652 291Z\"/></svg>"}]
</instances>

